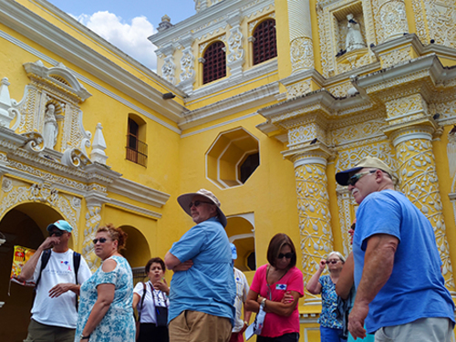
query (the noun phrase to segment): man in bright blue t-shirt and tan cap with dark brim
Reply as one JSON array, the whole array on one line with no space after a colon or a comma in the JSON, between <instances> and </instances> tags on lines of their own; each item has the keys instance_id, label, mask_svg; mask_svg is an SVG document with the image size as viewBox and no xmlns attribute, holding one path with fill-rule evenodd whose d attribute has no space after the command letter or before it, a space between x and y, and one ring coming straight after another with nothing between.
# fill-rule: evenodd
<instances>
[{"instance_id":1,"label":"man in bright blue t-shirt and tan cap with dark brim","mask_svg":"<svg viewBox=\"0 0 456 342\"><path fill-rule=\"evenodd\" d=\"M450 342L454 304L429 220L394 190L389 166L377 158L337 172L336 180L359 204L352 336L365 337L367 330L376 342Z\"/></svg>"}]
</instances>

